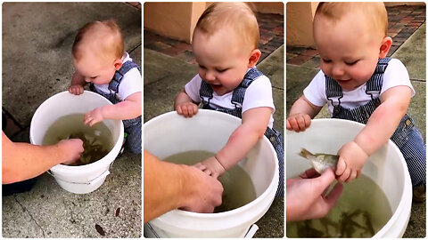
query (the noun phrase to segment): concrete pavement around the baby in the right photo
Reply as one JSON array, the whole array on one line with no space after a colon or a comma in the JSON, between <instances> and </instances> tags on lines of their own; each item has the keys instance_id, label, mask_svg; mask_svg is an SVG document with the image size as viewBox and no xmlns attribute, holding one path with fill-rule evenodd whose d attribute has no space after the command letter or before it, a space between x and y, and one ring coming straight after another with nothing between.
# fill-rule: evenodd
<instances>
[{"instance_id":1,"label":"concrete pavement around the baby in the right photo","mask_svg":"<svg viewBox=\"0 0 428 240\"><path fill-rule=\"evenodd\" d=\"M407 113L416 121L416 127L422 132L426 143L426 23L402 44L397 52L391 56L403 62L407 67L410 81L416 90ZM303 89L309 84L319 69L304 66L286 65L286 116L290 112L292 103L300 98ZM328 110L324 107L316 118L330 118ZM412 204L412 212L403 237L425 237L426 235L426 202L423 204Z\"/></svg>"}]
</instances>

